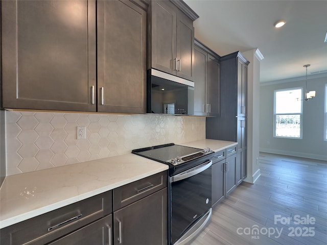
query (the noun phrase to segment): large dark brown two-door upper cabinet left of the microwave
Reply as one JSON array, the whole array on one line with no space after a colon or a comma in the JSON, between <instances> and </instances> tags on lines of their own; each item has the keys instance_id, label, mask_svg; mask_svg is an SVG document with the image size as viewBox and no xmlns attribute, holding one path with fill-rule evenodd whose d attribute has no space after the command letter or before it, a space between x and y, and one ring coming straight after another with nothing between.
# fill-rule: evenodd
<instances>
[{"instance_id":1,"label":"large dark brown two-door upper cabinet left of the microwave","mask_svg":"<svg viewBox=\"0 0 327 245\"><path fill-rule=\"evenodd\" d=\"M2 3L2 108L145 113L147 7Z\"/></svg>"}]
</instances>

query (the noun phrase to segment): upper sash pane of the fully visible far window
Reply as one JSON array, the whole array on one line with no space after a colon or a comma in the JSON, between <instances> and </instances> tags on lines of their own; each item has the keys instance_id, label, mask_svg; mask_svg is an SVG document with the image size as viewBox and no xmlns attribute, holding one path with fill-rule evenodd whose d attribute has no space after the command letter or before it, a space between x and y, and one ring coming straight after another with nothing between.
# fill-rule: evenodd
<instances>
[{"instance_id":1,"label":"upper sash pane of the fully visible far window","mask_svg":"<svg viewBox=\"0 0 327 245\"><path fill-rule=\"evenodd\" d=\"M276 91L275 113L301 113L301 99L302 89Z\"/></svg>"}]
</instances>

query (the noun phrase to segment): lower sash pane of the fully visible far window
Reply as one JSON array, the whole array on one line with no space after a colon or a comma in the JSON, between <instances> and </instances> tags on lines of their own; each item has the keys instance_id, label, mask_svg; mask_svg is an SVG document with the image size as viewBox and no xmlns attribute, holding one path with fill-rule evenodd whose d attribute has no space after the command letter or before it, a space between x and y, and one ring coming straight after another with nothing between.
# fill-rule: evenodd
<instances>
[{"instance_id":1,"label":"lower sash pane of the fully visible far window","mask_svg":"<svg viewBox=\"0 0 327 245\"><path fill-rule=\"evenodd\" d=\"M300 114L276 115L275 136L299 138L300 132Z\"/></svg>"}]
</instances>

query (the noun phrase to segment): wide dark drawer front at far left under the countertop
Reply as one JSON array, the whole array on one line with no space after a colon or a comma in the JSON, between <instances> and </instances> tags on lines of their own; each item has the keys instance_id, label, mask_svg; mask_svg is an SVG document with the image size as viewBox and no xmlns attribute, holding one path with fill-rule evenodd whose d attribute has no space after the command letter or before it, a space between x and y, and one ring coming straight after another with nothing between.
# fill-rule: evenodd
<instances>
[{"instance_id":1,"label":"wide dark drawer front at far left under the countertop","mask_svg":"<svg viewBox=\"0 0 327 245\"><path fill-rule=\"evenodd\" d=\"M112 212L112 191L0 230L1 244L45 244Z\"/></svg>"}]
</instances>

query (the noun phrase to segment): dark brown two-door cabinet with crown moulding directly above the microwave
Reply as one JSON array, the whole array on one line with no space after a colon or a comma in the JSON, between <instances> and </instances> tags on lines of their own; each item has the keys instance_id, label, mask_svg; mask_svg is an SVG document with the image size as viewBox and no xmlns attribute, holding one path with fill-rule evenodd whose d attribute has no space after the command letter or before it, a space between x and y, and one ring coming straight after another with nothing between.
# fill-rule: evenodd
<instances>
[{"instance_id":1,"label":"dark brown two-door cabinet with crown moulding directly above the microwave","mask_svg":"<svg viewBox=\"0 0 327 245\"><path fill-rule=\"evenodd\" d=\"M193 81L194 28L199 16L183 1L151 1L148 68Z\"/></svg>"}]
</instances>

